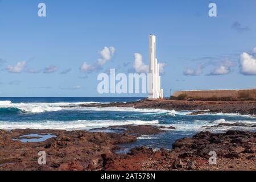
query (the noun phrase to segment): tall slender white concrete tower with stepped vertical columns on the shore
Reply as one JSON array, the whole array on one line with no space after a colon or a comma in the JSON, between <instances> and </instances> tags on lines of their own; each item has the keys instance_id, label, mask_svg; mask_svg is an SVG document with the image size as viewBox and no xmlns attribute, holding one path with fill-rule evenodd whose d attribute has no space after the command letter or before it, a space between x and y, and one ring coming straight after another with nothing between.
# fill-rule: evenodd
<instances>
[{"instance_id":1,"label":"tall slender white concrete tower with stepped vertical columns on the shore","mask_svg":"<svg viewBox=\"0 0 256 182\"><path fill-rule=\"evenodd\" d=\"M159 76L159 64L155 56L155 35L149 36L148 51L148 98L163 98L163 89L161 89L161 77Z\"/></svg>"}]
</instances>

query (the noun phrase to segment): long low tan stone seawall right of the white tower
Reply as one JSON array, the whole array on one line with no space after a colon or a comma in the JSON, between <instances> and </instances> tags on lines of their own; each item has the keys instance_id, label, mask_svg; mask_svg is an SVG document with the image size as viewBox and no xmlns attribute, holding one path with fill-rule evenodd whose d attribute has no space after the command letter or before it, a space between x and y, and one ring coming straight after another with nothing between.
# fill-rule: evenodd
<instances>
[{"instance_id":1,"label":"long low tan stone seawall right of the white tower","mask_svg":"<svg viewBox=\"0 0 256 182\"><path fill-rule=\"evenodd\" d=\"M188 98L232 98L232 99L256 99L256 89L245 90L186 90L174 92L174 97L185 95Z\"/></svg>"}]
</instances>

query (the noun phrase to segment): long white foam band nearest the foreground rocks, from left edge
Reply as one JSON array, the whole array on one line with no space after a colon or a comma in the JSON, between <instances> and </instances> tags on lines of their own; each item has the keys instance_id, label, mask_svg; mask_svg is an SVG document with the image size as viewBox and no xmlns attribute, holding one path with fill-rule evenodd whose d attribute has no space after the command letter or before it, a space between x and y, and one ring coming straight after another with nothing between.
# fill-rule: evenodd
<instances>
[{"instance_id":1,"label":"long white foam band nearest the foreground rocks, from left edge","mask_svg":"<svg viewBox=\"0 0 256 182\"><path fill-rule=\"evenodd\" d=\"M158 125L158 120L78 120L78 121L35 121L35 122L6 122L0 121L0 129L55 129L55 130L89 130L98 127L115 125Z\"/></svg>"}]
</instances>

